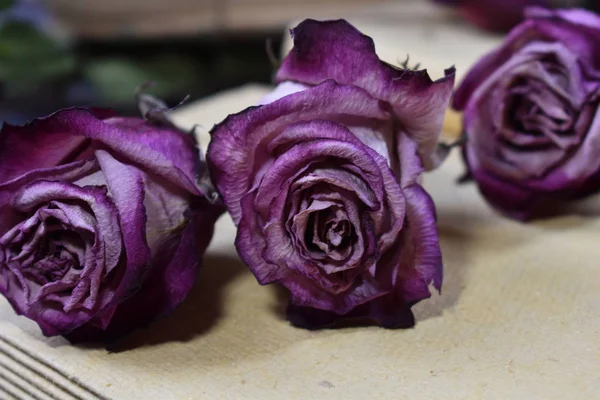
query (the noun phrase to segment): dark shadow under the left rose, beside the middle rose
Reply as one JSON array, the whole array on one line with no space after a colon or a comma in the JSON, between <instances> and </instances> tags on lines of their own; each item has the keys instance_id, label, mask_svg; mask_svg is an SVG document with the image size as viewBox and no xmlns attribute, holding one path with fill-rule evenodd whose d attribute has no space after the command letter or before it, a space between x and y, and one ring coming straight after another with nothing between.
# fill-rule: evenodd
<instances>
[{"instance_id":1,"label":"dark shadow under the left rose, beside the middle rose","mask_svg":"<svg viewBox=\"0 0 600 400\"><path fill-rule=\"evenodd\" d=\"M223 314L224 288L246 271L237 257L207 254L196 285L171 315L108 345L107 350L123 352L166 342L185 342L207 333Z\"/></svg>"}]
</instances>

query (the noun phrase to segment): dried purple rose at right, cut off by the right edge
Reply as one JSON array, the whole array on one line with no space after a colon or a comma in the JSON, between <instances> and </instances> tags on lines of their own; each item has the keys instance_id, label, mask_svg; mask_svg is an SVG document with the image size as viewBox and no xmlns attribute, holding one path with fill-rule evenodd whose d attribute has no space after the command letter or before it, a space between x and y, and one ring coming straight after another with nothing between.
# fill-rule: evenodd
<instances>
[{"instance_id":1,"label":"dried purple rose at right, cut off by the right edge","mask_svg":"<svg viewBox=\"0 0 600 400\"><path fill-rule=\"evenodd\" d=\"M527 16L454 97L473 177L519 219L596 191L600 175L600 18L538 8Z\"/></svg>"}]
</instances>

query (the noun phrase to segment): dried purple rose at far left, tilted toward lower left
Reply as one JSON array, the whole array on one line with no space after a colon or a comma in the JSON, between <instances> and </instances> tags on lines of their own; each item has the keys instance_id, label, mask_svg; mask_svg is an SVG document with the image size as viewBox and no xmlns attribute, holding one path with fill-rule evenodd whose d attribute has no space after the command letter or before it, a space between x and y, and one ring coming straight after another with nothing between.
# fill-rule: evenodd
<instances>
[{"instance_id":1,"label":"dried purple rose at far left, tilted toward lower left","mask_svg":"<svg viewBox=\"0 0 600 400\"><path fill-rule=\"evenodd\" d=\"M202 201L199 162L186 135L104 111L5 125L0 291L44 334L78 341L170 312L219 214Z\"/></svg>"}]
</instances>

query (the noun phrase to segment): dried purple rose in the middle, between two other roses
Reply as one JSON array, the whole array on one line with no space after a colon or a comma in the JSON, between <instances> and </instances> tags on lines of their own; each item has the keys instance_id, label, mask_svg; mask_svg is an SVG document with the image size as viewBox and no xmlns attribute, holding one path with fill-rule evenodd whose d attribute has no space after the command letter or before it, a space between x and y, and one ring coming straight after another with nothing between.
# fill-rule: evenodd
<instances>
[{"instance_id":1,"label":"dried purple rose in the middle, between two other roses","mask_svg":"<svg viewBox=\"0 0 600 400\"><path fill-rule=\"evenodd\" d=\"M288 318L319 328L366 318L395 328L442 284L434 163L454 75L383 63L345 21L306 20L263 105L212 131L208 163L236 247L261 284L290 292Z\"/></svg>"}]
</instances>

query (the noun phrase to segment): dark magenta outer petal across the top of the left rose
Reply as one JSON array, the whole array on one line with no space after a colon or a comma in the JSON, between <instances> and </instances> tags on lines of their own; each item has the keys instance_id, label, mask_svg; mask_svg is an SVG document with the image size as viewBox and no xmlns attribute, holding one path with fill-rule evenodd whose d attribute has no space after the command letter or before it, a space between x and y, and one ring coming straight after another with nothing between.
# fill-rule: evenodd
<instances>
[{"instance_id":1,"label":"dark magenta outer petal across the top of the left rose","mask_svg":"<svg viewBox=\"0 0 600 400\"><path fill-rule=\"evenodd\" d=\"M18 128L5 125L0 134L0 152L7 155L0 153L0 159L5 160L7 168L0 173L0 182L31 170L90 158L92 144L107 146L112 153L126 157L140 168L198 193L194 175L198 167L193 165L198 153L190 137L172 129L143 125L141 120L103 121L85 109L62 110ZM13 151L8 154L11 148ZM186 148L187 154L178 155L178 148ZM27 167L20 166L29 159L36 161Z\"/></svg>"}]
</instances>

